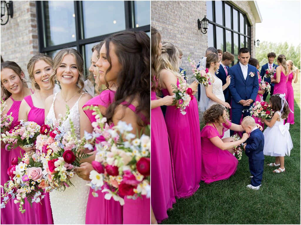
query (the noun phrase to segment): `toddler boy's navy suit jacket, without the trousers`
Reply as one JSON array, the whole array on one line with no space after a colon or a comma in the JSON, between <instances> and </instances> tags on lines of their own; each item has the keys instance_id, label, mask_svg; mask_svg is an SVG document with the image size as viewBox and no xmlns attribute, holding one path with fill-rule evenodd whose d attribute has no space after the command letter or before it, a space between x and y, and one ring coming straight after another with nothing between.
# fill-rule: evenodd
<instances>
[{"instance_id":1,"label":"toddler boy's navy suit jacket, without the trousers","mask_svg":"<svg viewBox=\"0 0 301 225\"><path fill-rule=\"evenodd\" d=\"M257 128L253 130L250 137L247 139L246 155L252 160L264 160L263 155L264 136Z\"/></svg>"}]
</instances>

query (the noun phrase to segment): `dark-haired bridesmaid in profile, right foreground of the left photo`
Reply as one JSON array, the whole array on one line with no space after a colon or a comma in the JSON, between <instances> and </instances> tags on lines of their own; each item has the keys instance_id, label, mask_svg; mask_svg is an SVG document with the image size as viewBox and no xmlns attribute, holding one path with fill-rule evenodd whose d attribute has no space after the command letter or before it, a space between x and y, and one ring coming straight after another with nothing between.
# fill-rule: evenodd
<instances>
[{"instance_id":1,"label":"dark-haired bridesmaid in profile, right foreground of the left photo","mask_svg":"<svg viewBox=\"0 0 301 225\"><path fill-rule=\"evenodd\" d=\"M96 63L106 85L116 80L118 89L106 110L108 123L131 123L132 133L145 132L150 121L150 38L145 32L125 30L104 41ZM149 198L124 199L123 224L150 224Z\"/></svg>"}]
</instances>

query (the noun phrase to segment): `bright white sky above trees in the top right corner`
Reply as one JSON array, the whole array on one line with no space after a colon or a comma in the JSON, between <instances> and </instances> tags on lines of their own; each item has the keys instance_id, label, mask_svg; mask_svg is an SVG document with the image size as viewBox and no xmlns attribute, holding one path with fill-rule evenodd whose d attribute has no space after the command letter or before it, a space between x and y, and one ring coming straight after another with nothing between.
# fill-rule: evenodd
<instances>
[{"instance_id":1,"label":"bright white sky above trees in the top right corner","mask_svg":"<svg viewBox=\"0 0 301 225\"><path fill-rule=\"evenodd\" d=\"M262 22L256 23L256 40L297 46L300 43L300 1L256 1Z\"/></svg>"}]
</instances>

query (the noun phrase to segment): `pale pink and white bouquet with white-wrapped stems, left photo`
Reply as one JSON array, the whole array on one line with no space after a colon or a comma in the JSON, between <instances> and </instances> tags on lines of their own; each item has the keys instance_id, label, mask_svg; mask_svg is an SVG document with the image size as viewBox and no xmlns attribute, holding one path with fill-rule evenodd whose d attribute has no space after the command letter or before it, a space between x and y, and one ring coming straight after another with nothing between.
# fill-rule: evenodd
<instances>
[{"instance_id":1,"label":"pale pink and white bouquet with white-wrapped stems, left photo","mask_svg":"<svg viewBox=\"0 0 301 225\"><path fill-rule=\"evenodd\" d=\"M37 136L40 134L40 126L35 122L20 120L16 125L10 131L1 134L1 140L4 143L8 142L5 146L5 149L8 151L18 146L32 147Z\"/></svg>"}]
</instances>

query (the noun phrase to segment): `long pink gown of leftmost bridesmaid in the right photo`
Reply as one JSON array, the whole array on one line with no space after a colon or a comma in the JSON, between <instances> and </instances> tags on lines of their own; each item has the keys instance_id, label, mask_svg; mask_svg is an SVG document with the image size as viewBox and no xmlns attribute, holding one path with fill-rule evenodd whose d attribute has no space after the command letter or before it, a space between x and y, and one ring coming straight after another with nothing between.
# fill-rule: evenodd
<instances>
[{"instance_id":1,"label":"long pink gown of leftmost bridesmaid in the right photo","mask_svg":"<svg viewBox=\"0 0 301 225\"><path fill-rule=\"evenodd\" d=\"M151 92L151 100L156 100ZM151 110L151 205L158 223L168 218L167 210L175 203L175 183L171 147L160 107Z\"/></svg>"}]
</instances>

